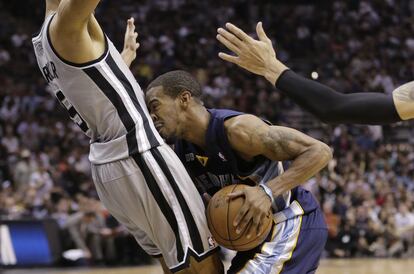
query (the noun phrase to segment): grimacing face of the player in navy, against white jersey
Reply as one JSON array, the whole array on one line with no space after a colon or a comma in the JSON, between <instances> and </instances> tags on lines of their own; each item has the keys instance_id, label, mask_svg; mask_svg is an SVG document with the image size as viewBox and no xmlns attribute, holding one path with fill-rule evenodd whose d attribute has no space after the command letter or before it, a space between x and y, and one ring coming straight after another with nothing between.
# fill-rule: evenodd
<instances>
[{"instance_id":1,"label":"grimacing face of the player in navy, against white jersey","mask_svg":"<svg viewBox=\"0 0 414 274\"><path fill-rule=\"evenodd\" d=\"M163 92L162 87L147 91L146 101L155 128L165 138L179 137L179 106L177 100Z\"/></svg>"}]
</instances>

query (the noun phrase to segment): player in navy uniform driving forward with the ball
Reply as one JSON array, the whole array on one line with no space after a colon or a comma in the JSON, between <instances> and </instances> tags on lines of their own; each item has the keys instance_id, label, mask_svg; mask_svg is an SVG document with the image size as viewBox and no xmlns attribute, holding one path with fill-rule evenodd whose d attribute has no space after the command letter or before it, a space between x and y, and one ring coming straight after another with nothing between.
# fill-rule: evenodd
<instances>
[{"instance_id":1,"label":"player in navy uniform driving forward with the ball","mask_svg":"<svg viewBox=\"0 0 414 274\"><path fill-rule=\"evenodd\" d=\"M234 219L238 233L259 233L272 208L274 227L263 244L238 252L228 273L314 273L327 238L313 195L300 187L331 159L324 143L256 116L207 109L189 73L172 71L150 83L146 101L155 127L176 138L175 150L203 196L235 183L245 197ZM292 161L283 172L279 161ZM251 225L248 224L251 222Z\"/></svg>"}]
</instances>

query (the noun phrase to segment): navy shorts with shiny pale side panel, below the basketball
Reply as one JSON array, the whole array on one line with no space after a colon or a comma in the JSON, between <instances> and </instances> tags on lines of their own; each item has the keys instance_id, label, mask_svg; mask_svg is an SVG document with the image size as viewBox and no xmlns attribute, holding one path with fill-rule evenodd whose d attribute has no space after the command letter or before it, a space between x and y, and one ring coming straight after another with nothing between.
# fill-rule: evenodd
<instances>
[{"instance_id":1,"label":"navy shorts with shiny pale side panel, below the basketball","mask_svg":"<svg viewBox=\"0 0 414 274\"><path fill-rule=\"evenodd\" d=\"M316 269L326 238L326 224L320 209L295 216L275 224L262 245L238 252L228 273L285 273L282 270L286 269L293 271L286 273L307 273L309 269ZM301 259L306 256L312 258Z\"/></svg>"}]
</instances>

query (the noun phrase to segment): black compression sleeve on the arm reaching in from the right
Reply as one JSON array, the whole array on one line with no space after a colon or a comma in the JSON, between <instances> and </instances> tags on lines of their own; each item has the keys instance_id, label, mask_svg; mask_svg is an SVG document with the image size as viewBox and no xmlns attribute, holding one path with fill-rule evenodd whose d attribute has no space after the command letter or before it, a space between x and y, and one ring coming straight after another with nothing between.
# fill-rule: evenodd
<instances>
[{"instance_id":1,"label":"black compression sleeve on the arm reaching in from the right","mask_svg":"<svg viewBox=\"0 0 414 274\"><path fill-rule=\"evenodd\" d=\"M391 96L342 94L293 71L285 71L276 87L326 123L388 124L400 121Z\"/></svg>"}]
</instances>

